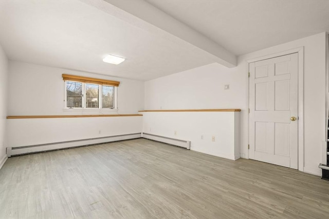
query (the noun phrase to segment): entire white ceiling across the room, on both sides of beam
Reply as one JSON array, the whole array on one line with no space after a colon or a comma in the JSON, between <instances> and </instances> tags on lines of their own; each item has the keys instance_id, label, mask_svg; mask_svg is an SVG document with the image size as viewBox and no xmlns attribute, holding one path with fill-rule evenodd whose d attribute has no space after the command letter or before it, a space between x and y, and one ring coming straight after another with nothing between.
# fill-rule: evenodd
<instances>
[{"instance_id":1,"label":"entire white ceiling across the room, on both sides of beam","mask_svg":"<svg viewBox=\"0 0 329 219\"><path fill-rule=\"evenodd\" d=\"M147 81L329 32L327 0L119 2L0 1L0 43L14 61ZM132 3L142 15L122 6ZM103 63L106 54L126 61Z\"/></svg>"}]
</instances>

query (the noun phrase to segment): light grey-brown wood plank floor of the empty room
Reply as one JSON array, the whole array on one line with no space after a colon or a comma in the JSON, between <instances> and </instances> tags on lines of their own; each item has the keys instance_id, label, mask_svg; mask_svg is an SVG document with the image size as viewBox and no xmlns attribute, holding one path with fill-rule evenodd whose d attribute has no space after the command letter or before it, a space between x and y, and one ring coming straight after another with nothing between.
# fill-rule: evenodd
<instances>
[{"instance_id":1,"label":"light grey-brown wood plank floor of the empty room","mask_svg":"<svg viewBox=\"0 0 329 219\"><path fill-rule=\"evenodd\" d=\"M0 218L328 218L329 181L143 138L8 158Z\"/></svg>"}]
</instances>

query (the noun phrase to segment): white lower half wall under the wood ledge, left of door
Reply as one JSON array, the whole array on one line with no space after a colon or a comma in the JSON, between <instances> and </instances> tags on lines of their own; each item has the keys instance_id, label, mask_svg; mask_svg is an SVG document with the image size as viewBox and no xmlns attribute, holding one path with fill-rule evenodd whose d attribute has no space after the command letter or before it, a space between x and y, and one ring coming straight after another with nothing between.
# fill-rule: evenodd
<instances>
[{"instance_id":1,"label":"white lower half wall under the wood ledge, left of door","mask_svg":"<svg viewBox=\"0 0 329 219\"><path fill-rule=\"evenodd\" d=\"M191 150L240 158L240 112L142 112L143 132L191 141ZM176 133L176 134L175 134ZM214 141L212 140L214 137Z\"/></svg>"}]
</instances>

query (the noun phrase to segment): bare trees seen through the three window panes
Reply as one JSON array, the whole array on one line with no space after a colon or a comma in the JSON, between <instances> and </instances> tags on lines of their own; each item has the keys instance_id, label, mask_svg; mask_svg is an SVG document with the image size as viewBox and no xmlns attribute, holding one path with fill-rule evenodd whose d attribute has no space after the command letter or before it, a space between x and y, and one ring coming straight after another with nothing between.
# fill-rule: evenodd
<instances>
[{"instance_id":1,"label":"bare trees seen through the three window panes","mask_svg":"<svg viewBox=\"0 0 329 219\"><path fill-rule=\"evenodd\" d=\"M97 84L66 81L66 107L100 108L99 92L101 91L101 108L114 108L114 87ZM100 90L101 89L101 90ZM85 95L83 95L85 90ZM83 106L83 101L85 106Z\"/></svg>"}]
</instances>

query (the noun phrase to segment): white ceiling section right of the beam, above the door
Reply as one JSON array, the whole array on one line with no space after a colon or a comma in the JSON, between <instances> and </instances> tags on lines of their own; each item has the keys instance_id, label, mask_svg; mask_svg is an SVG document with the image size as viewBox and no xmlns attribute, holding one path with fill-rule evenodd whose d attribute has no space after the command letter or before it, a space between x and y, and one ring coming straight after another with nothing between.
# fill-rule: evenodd
<instances>
[{"instance_id":1,"label":"white ceiling section right of the beam, above the door","mask_svg":"<svg viewBox=\"0 0 329 219\"><path fill-rule=\"evenodd\" d=\"M329 32L329 0L146 0L235 55Z\"/></svg>"}]
</instances>

